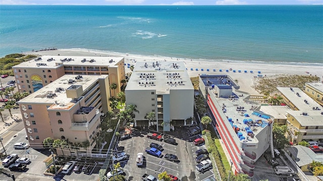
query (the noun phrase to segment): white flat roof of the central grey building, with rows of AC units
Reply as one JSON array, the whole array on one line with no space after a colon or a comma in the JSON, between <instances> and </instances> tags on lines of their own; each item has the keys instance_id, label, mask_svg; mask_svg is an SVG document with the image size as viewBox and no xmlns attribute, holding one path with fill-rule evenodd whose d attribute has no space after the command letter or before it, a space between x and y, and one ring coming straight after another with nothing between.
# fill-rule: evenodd
<instances>
[{"instance_id":1,"label":"white flat roof of the central grey building, with rows of AC units","mask_svg":"<svg viewBox=\"0 0 323 181\"><path fill-rule=\"evenodd\" d=\"M194 89L183 62L137 61L126 90L155 90L169 94L170 89Z\"/></svg>"}]
</instances>

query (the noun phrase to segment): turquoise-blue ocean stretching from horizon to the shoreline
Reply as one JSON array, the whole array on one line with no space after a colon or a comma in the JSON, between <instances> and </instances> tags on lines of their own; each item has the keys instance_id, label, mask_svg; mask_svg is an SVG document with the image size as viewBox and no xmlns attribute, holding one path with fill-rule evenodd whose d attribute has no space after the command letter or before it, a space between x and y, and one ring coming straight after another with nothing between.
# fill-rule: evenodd
<instances>
[{"instance_id":1,"label":"turquoise-blue ocean stretching from horizon to the shoreline","mask_svg":"<svg viewBox=\"0 0 323 181\"><path fill-rule=\"evenodd\" d=\"M79 48L323 64L323 6L0 6L0 56Z\"/></svg>"}]
</instances>

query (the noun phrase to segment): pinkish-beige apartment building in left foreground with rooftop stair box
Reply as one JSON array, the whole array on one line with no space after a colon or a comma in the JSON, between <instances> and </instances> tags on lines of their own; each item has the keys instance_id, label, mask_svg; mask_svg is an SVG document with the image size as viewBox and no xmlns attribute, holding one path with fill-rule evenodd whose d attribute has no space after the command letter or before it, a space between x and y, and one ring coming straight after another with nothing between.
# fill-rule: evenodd
<instances>
[{"instance_id":1,"label":"pinkish-beige apartment building in left foreground with rooftop stair box","mask_svg":"<svg viewBox=\"0 0 323 181\"><path fill-rule=\"evenodd\" d=\"M43 86L18 102L30 146L42 148L42 141L51 137L74 143L88 140L93 148L109 98L108 75L63 75Z\"/></svg>"}]
</instances>

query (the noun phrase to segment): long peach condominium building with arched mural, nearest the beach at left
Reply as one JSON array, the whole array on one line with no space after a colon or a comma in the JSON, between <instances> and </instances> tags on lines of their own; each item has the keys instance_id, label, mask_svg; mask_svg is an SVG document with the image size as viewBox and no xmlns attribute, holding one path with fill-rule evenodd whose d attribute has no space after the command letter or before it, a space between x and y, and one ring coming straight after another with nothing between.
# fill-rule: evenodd
<instances>
[{"instance_id":1,"label":"long peach condominium building with arched mural, nearest the beach at left","mask_svg":"<svg viewBox=\"0 0 323 181\"><path fill-rule=\"evenodd\" d=\"M125 86L124 58L98 56L41 56L12 67L19 92L34 93L65 74L109 75L109 83L117 84L118 94Z\"/></svg>"}]
</instances>

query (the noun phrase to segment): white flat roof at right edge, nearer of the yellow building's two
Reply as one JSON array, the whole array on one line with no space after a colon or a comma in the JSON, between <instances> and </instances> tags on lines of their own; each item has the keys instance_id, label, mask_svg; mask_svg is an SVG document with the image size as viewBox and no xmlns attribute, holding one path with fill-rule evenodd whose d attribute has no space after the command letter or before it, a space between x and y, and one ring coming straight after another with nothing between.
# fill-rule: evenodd
<instances>
[{"instance_id":1,"label":"white flat roof at right edge, nearer of the yellow building's two","mask_svg":"<svg viewBox=\"0 0 323 181\"><path fill-rule=\"evenodd\" d=\"M293 116L301 126L319 126L323 125L323 111L287 111L288 114ZM303 113L306 113L304 115Z\"/></svg>"}]
</instances>

